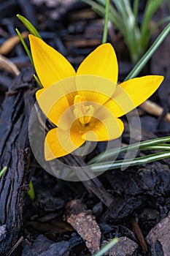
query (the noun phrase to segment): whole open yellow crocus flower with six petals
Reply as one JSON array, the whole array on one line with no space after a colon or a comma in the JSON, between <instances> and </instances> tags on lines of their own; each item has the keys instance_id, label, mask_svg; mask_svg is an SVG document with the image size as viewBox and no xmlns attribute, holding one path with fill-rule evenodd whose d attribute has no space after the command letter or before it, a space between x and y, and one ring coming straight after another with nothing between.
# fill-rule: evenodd
<instances>
[{"instance_id":1,"label":"whole open yellow crocus flower with six petals","mask_svg":"<svg viewBox=\"0 0 170 256\"><path fill-rule=\"evenodd\" d=\"M34 66L43 89L36 99L43 112L56 125L45 138L45 159L72 153L85 140L119 138L119 119L150 97L163 76L147 75L117 85L118 65L109 43L98 46L75 72L61 53L42 39L29 36Z\"/></svg>"}]
</instances>

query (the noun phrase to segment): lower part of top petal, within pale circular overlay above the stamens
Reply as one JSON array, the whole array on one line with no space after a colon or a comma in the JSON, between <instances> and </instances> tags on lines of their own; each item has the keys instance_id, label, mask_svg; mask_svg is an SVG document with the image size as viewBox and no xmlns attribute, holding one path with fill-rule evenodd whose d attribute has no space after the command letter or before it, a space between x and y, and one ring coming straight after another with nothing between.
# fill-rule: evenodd
<instances>
[{"instance_id":1,"label":"lower part of top petal, within pale circular overlay above the stamens","mask_svg":"<svg viewBox=\"0 0 170 256\"><path fill-rule=\"evenodd\" d=\"M96 75L77 75L76 89L86 101L103 105L114 94L116 83Z\"/></svg>"}]
</instances>

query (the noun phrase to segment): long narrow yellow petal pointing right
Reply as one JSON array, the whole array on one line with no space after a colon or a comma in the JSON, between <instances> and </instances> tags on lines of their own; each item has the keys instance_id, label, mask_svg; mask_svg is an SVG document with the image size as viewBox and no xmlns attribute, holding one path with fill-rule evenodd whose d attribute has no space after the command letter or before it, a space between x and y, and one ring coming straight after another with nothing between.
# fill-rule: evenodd
<instances>
[{"instance_id":1,"label":"long narrow yellow petal pointing right","mask_svg":"<svg viewBox=\"0 0 170 256\"><path fill-rule=\"evenodd\" d=\"M142 78L133 78L121 83L115 89L112 99L104 103L112 114L120 117L141 105L161 85L163 76L147 75Z\"/></svg>"}]
</instances>

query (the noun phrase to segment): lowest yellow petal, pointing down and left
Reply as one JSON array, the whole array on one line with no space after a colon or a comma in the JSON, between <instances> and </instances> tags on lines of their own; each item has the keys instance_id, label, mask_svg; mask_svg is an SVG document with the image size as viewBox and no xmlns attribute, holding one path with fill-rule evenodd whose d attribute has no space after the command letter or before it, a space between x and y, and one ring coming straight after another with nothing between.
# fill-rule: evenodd
<instances>
[{"instance_id":1,"label":"lowest yellow petal, pointing down and left","mask_svg":"<svg viewBox=\"0 0 170 256\"><path fill-rule=\"evenodd\" d=\"M45 138L45 159L47 161L66 156L82 146L85 140L76 131L63 131L60 128L51 129Z\"/></svg>"}]
</instances>

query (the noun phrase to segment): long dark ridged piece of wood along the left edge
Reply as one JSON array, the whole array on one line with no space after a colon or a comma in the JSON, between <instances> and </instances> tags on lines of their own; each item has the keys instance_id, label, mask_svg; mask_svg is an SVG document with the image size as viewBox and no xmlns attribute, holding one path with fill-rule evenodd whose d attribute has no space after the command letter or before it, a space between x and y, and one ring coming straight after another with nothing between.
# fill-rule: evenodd
<instances>
[{"instance_id":1,"label":"long dark ridged piece of wood along the left edge","mask_svg":"<svg viewBox=\"0 0 170 256\"><path fill-rule=\"evenodd\" d=\"M25 69L14 80L0 118L0 255L9 255L23 225L23 206L33 168L28 145L28 119L34 104L33 72ZM29 108L28 108L29 106Z\"/></svg>"}]
</instances>

